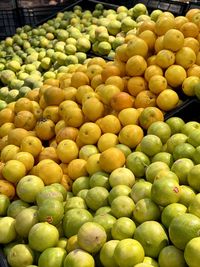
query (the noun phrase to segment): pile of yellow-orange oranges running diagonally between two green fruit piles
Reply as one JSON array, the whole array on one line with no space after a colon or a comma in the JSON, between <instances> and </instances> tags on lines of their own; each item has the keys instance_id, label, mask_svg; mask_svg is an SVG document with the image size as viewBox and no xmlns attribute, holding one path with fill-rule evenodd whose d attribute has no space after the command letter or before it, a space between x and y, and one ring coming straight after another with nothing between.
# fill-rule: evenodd
<instances>
[{"instance_id":1,"label":"pile of yellow-orange oranges running diagonally between two green fruit piles","mask_svg":"<svg viewBox=\"0 0 200 267\"><path fill-rule=\"evenodd\" d=\"M27 175L70 190L80 176L125 163L154 121L194 95L200 79L200 11L163 12L139 24L114 61L100 57L68 67L56 79L0 111L0 193L15 197Z\"/></svg>"}]
</instances>

